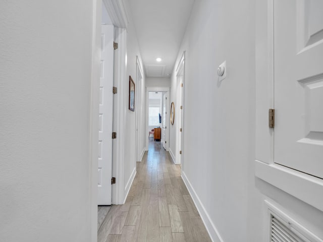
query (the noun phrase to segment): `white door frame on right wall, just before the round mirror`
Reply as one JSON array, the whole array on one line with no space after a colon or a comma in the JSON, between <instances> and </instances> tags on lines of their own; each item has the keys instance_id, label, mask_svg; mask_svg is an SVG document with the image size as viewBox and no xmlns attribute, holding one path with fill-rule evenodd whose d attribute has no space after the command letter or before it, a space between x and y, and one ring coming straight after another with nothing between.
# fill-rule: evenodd
<instances>
[{"instance_id":1,"label":"white door frame on right wall, just before the round mirror","mask_svg":"<svg viewBox=\"0 0 323 242\"><path fill-rule=\"evenodd\" d=\"M182 77L183 87L180 87L180 76ZM176 135L175 135L176 162L175 163L182 164L183 157L184 157L183 141L184 141L184 132L185 132L185 129L184 129L185 51L183 52L180 62L176 68L176 81L177 81L176 100L178 104L176 105L175 113L178 113L178 116L179 116L179 113L181 112L182 118L175 118L175 130L176 130ZM182 104L183 109L180 109L180 106L181 106L180 104ZM182 132L180 131L180 128L182 128ZM182 151L182 154L180 154L180 151Z\"/></svg>"}]
</instances>

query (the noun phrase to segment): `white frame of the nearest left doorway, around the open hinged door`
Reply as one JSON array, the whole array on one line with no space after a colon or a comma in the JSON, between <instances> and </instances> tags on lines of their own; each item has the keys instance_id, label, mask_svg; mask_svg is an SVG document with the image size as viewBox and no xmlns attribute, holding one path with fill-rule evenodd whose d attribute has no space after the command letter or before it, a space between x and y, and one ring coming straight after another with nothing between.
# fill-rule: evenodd
<instances>
[{"instance_id":1,"label":"white frame of the nearest left doorway, around the open hinged door","mask_svg":"<svg viewBox=\"0 0 323 242\"><path fill-rule=\"evenodd\" d=\"M118 94L114 99L114 130L117 139L114 142L113 175L117 177L117 183L113 186L113 204L123 204L123 171L124 171L124 95L126 76L127 54L127 24L126 9L121 0L93 0L92 19L92 77L91 77L91 105L90 105L90 167L89 167L89 227L91 241L97 241L97 153L98 153L98 114L99 114L99 80L100 80L100 49L101 49L101 21L102 3L112 20L115 29L115 39L119 44L119 51L115 52L115 85ZM116 162L118 160L118 162Z\"/></svg>"}]
</instances>

